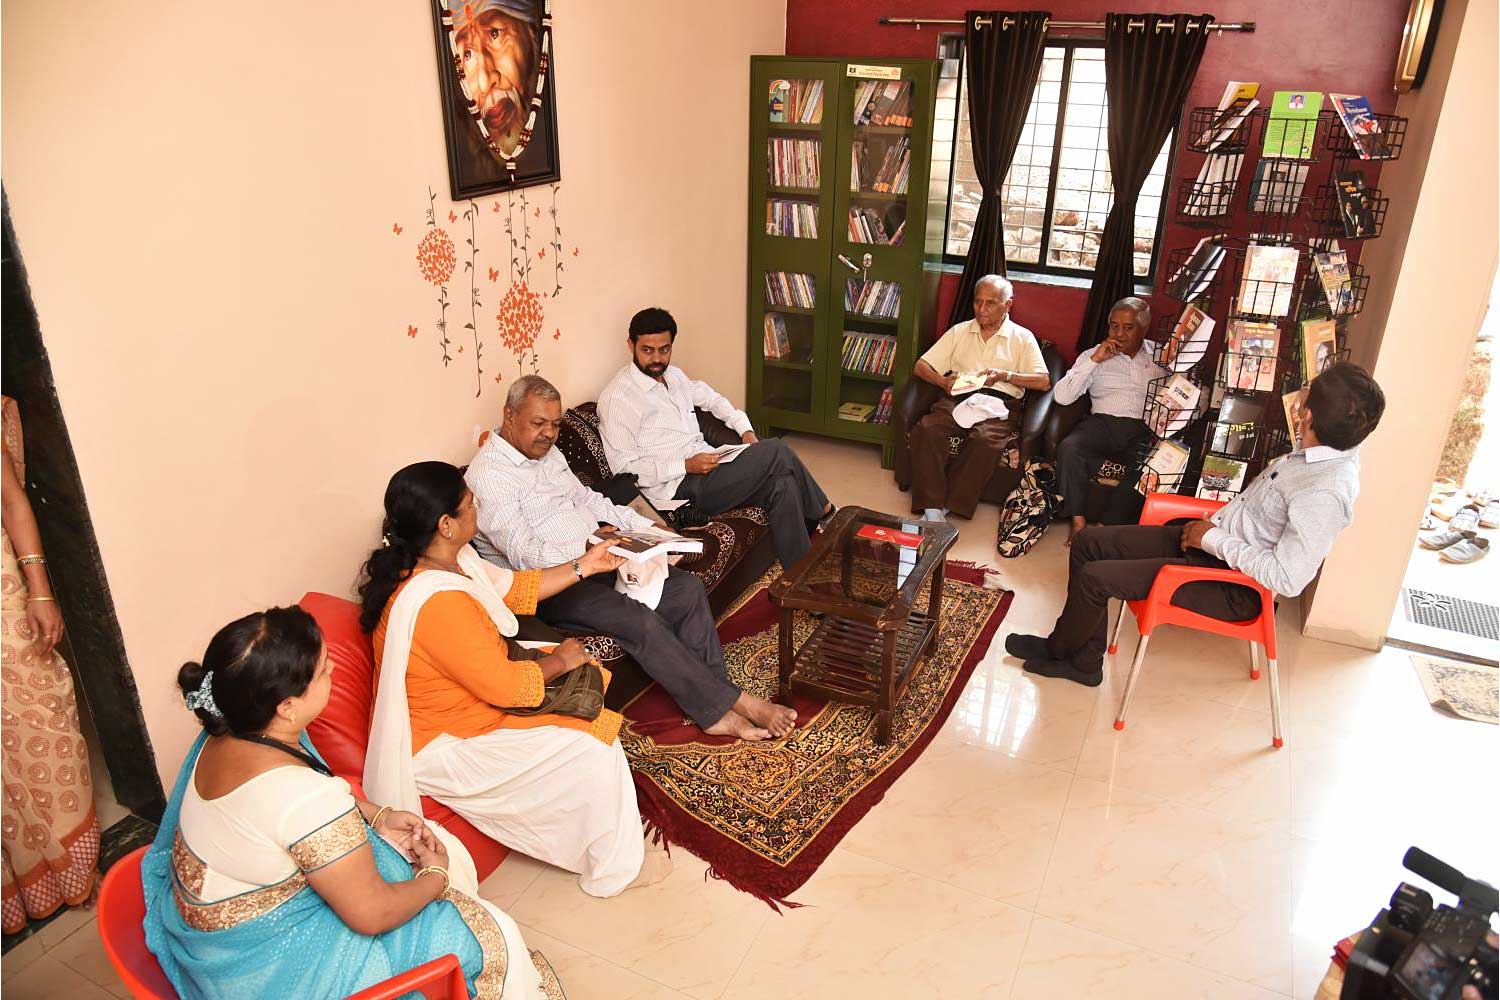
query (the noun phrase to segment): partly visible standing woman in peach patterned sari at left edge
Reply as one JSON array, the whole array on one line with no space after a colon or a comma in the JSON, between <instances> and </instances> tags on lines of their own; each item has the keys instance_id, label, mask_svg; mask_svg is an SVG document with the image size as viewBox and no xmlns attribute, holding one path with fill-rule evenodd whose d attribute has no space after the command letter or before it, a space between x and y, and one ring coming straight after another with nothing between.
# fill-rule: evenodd
<instances>
[{"instance_id":1,"label":"partly visible standing woman in peach patterned sari at left edge","mask_svg":"<svg viewBox=\"0 0 1500 1000\"><path fill-rule=\"evenodd\" d=\"M4 565L0 627L0 774L6 934L93 894L99 820L88 747L68 664L57 655L63 616L46 576L36 517L26 496L26 448L14 399L0 396Z\"/></svg>"}]
</instances>

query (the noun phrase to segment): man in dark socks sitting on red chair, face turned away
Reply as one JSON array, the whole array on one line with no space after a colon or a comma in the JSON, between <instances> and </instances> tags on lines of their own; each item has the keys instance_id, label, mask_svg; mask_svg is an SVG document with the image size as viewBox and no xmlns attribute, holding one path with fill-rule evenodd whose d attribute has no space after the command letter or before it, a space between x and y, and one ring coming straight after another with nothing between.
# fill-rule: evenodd
<instances>
[{"instance_id":1,"label":"man in dark socks sitting on red chair, face turned away","mask_svg":"<svg viewBox=\"0 0 1500 1000\"><path fill-rule=\"evenodd\" d=\"M1068 561L1068 601L1052 634L1006 636L1005 651L1024 660L1028 673L1096 687L1104 679L1110 598L1143 600L1164 565L1227 567L1296 597L1353 520L1356 448L1384 408L1384 394L1362 367L1341 361L1326 369L1296 418L1296 451L1268 465L1209 519L1082 531ZM1236 583L1188 583L1172 603L1232 622L1260 613L1256 592Z\"/></svg>"}]
</instances>

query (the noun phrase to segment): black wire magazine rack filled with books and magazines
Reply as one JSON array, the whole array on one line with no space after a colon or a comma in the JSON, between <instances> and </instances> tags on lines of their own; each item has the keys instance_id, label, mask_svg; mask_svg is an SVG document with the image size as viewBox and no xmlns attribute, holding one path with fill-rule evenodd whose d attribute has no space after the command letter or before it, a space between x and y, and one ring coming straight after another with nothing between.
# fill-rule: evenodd
<instances>
[{"instance_id":1,"label":"black wire magazine rack filled with books and magazines","mask_svg":"<svg viewBox=\"0 0 1500 1000\"><path fill-rule=\"evenodd\" d=\"M1370 291L1353 258L1384 229L1376 181L1401 156L1407 121L1365 108L1356 141L1348 102L1329 94L1334 106L1318 108L1322 97L1292 96L1288 111L1282 93L1270 108L1236 96L1186 115L1180 154L1200 171L1179 181L1174 220L1203 235L1166 255L1156 306L1172 304L1154 339L1172 375L1150 384L1142 414L1156 435L1134 456L1143 493L1230 499L1294 447L1302 387L1348 357L1344 330ZM1184 333L1192 309L1209 334Z\"/></svg>"}]
</instances>

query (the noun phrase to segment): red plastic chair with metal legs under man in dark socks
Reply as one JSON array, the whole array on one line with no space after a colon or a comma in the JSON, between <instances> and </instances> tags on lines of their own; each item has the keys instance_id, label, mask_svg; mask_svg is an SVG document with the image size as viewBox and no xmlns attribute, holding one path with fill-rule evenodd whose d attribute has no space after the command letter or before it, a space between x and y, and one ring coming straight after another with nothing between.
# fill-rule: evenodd
<instances>
[{"instance_id":1,"label":"red plastic chair with metal legs under man in dark socks","mask_svg":"<svg viewBox=\"0 0 1500 1000\"><path fill-rule=\"evenodd\" d=\"M1166 525L1168 520L1191 517L1194 520L1208 517L1220 507L1220 501L1196 499L1192 496L1178 496L1174 493L1152 493L1146 498L1146 507L1140 513L1142 525ZM1238 583L1248 586L1260 595L1260 615L1245 622L1222 622L1216 618L1190 612L1172 603L1173 594L1185 583L1200 580L1220 580L1222 583ZM1125 729L1125 709L1130 708L1130 696L1136 691L1136 681L1140 678L1140 664L1146 660L1146 645L1156 625L1184 625L1198 631L1242 639L1250 643L1250 678L1260 678L1260 667L1256 663L1256 645L1266 651L1266 669L1270 673L1270 745L1281 747L1281 685L1276 678L1276 600L1275 594L1238 570L1216 570L1212 567L1168 565L1156 573L1150 592L1143 601L1125 601L1136 616L1136 627L1140 630L1140 645L1136 646L1136 660L1130 666L1130 679L1125 681L1125 697L1120 699L1120 711L1114 717L1114 729ZM1119 649L1120 625L1125 624L1125 607L1114 619L1114 630L1110 633L1110 652Z\"/></svg>"}]
</instances>

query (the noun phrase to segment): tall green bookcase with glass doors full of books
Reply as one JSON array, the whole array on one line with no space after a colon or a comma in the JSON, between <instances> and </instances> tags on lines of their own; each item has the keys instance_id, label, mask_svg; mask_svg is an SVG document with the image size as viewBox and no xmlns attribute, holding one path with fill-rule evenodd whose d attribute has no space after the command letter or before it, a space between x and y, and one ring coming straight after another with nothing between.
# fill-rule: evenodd
<instances>
[{"instance_id":1,"label":"tall green bookcase with glass doors full of books","mask_svg":"<svg viewBox=\"0 0 1500 1000\"><path fill-rule=\"evenodd\" d=\"M922 256L936 85L927 58L752 57L746 397L758 432L868 441L890 466L890 423L838 412L876 406L916 360L933 285ZM850 211L864 220L858 240ZM879 241L897 231L900 243ZM864 312L846 307L861 294ZM846 333L862 348L852 367Z\"/></svg>"}]
</instances>

